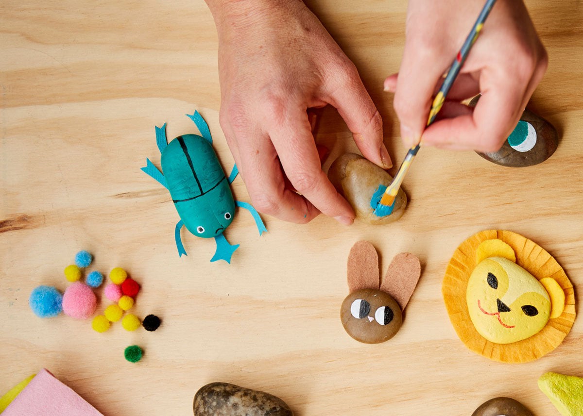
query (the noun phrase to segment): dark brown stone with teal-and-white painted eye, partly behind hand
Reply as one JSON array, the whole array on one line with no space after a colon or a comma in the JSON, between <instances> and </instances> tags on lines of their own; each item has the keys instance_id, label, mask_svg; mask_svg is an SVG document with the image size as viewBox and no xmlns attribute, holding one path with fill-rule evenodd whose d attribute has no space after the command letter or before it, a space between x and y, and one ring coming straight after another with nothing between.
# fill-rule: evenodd
<instances>
[{"instance_id":1,"label":"dark brown stone with teal-and-white painted eye, partly behind hand","mask_svg":"<svg viewBox=\"0 0 583 416\"><path fill-rule=\"evenodd\" d=\"M469 105L473 107L476 103L477 97ZM500 150L477 154L498 165L524 167L544 162L557 146L559 133L554 126L532 111L524 110L518 125Z\"/></svg>"}]
</instances>

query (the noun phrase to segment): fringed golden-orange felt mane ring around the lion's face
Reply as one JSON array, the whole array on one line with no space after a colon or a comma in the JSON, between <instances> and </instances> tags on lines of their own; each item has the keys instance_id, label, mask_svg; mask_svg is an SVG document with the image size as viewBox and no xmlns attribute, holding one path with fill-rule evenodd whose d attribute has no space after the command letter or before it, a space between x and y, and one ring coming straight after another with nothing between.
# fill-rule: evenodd
<instances>
[{"instance_id":1,"label":"fringed golden-orange felt mane ring around the lion's face","mask_svg":"<svg viewBox=\"0 0 583 416\"><path fill-rule=\"evenodd\" d=\"M551 277L565 293L565 308L558 318L551 318L532 337L510 344L493 343L477 332L469 316L466 292L470 274L476 268L476 251L487 239L500 239L516 253L517 264L537 280ZM575 320L575 292L557 260L531 240L511 231L486 230L466 239L454 252L441 286L445 308L459 339L470 350L501 362L528 362L558 347Z\"/></svg>"}]
</instances>

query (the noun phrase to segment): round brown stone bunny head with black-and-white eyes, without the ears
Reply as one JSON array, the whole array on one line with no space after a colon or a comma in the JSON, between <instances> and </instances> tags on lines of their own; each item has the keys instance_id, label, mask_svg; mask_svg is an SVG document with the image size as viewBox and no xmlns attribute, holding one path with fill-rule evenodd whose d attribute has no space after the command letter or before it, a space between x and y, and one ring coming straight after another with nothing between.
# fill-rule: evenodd
<instances>
[{"instance_id":1,"label":"round brown stone bunny head with black-and-white eyes, without the ears","mask_svg":"<svg viewBox=\"0 0 583 416\"><path fill-rule=\"evenodd\" d=\"M340 319L355 340L378 344L395 336L401 328L401 306L387 292L360 289L349 294L340 306Z\"/></svg>"}]
</instances>

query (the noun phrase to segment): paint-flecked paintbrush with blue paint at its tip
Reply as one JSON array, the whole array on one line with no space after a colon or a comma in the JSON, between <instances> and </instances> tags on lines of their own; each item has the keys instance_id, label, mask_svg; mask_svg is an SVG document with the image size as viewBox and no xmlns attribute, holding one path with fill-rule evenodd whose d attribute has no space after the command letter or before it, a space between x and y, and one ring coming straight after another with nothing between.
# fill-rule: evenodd
<instances>
[{"instance_id":1,"label":"paint-flecked paintbrush with blue paint at its tip","mask_svg":"<svg viewBox=\"0 0 583 416\"><path fill-rule=\"evenodd\" d=\"M455 78L458 76L459 70L462 68L463 62L466 61L468 57L469 51L472 48L472 45L475 43L477 37L484 26L484 22L486 21L486 17L490 14L490 10L492 6L494 6L496 0L486 0L486 4L482 8L480 15L477 17L476 23L474 23L472 30L468 34L468 37L464 41L462 48L459 50L458 54L456 55L454 62L452 62L447 74L445 75L445 79L441 84L441 88L437 93L436 97L433 100L433 104L431 105L431 110L429 112L429 119L427 120L427 126L431 125L435 120L437 113L441 110L441 106L451 88L452 84L454 84ZM427 128L426 126L426 128ZM377 217L385 217L392 213L393 208L395 206L395 197L397 196L397 192L399 192L399 188L401 188L401 184L403 183L403 179L405 179L405 174L409 170L413 159L417 152L419 151L419 144L417 146L412 147L407 152L403 163L399 167L395 178L391 182L391 185L388 186L386 189L384 185L379 186L377 192L374 193L373 198L371 199L371 207L375 207L374 213Z\"/></svg>"}]
</instances>

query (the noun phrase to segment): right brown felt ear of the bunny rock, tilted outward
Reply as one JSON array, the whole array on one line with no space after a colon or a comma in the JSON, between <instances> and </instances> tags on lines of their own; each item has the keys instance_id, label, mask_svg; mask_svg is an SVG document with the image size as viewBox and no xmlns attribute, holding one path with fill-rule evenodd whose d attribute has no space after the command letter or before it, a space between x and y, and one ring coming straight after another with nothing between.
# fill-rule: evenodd
<instances>
[{"instance_id":1,"label":"right brown felt ear of the bunny rock, tilted outward","mask_svg":"<svg viewBox=\"0 0 583 416\"><path fill-rule=\"evenodd\" d=\"M381 290L387 292L405 310L421 276L419 258L411 253L395 256L381 283Z\"/></svg>"}]
</instances>

